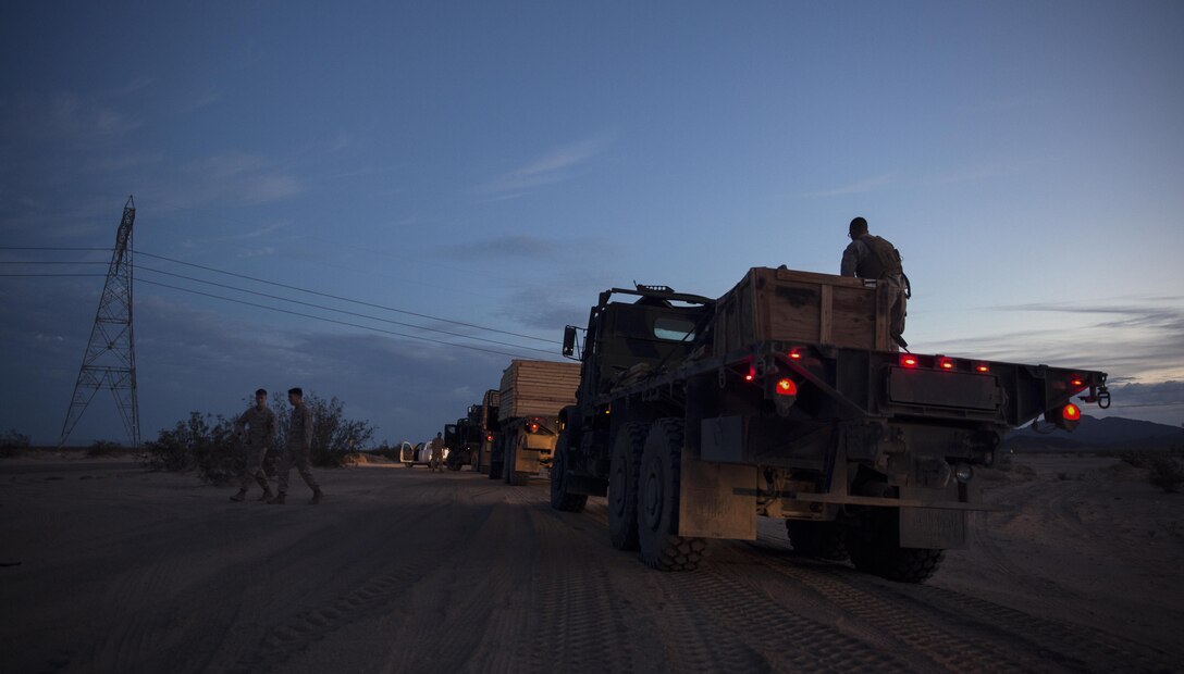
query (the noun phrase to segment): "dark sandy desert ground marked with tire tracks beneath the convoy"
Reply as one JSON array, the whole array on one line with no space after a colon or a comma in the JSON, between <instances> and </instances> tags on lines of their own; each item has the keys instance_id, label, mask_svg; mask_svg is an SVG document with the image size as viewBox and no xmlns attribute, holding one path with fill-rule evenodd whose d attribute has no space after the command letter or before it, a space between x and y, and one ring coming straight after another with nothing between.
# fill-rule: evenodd
<instances>
[{"instance_id":1,"label":"dark sandy desert ground marked with tire tracks beneath the convoy","mask_svg":"<svg viewBox=\"0 0 1184 674\"><path fill-rule=\"evenodd\" d=\"M925 585L790 551L693 573L614 550L604 499L469 472L318 471L305 505L118 460L0 460L0 672L1166 672L1184 495L1027 458ZM1058 474L1070 479L1058 479ZM252 492L252 497L258 492Z\"/></svg>"}]
</instances>

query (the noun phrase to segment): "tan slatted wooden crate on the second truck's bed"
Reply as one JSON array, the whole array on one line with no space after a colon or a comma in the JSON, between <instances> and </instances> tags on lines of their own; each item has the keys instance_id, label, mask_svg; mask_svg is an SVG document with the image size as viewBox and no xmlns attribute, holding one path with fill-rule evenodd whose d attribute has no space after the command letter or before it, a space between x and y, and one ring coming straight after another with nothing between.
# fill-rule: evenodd
<instances>
[{"instance_id":1,"label":"tan slatted wooden crate on the second truck's bed","mask_svg":"<svg viewBox=\"0 0 1184 674\"><path fill-rule=\"evenodd\" d=\"M575 404L579 385L579 363L511 361L502 372L497 419L555 416L568 404Z\"/></svg>"}]
</instances>

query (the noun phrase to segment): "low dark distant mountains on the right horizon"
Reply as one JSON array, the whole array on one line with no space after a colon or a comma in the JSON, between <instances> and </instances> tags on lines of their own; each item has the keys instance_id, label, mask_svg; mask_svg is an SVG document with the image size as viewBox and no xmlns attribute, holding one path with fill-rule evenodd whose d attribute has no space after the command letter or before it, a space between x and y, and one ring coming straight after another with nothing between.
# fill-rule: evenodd
<instances>
[{"instance_id":1,"label":"low dark distant mountains on the right horizon","mask_svg":"<svg viewBox=\"0 0 1184 674\"><path fill-rule=\"evenodd\" d=\"M1172 449L1184 447L1184 428L1106 416L1102 419L1082 416L1081 423L1072 433L1066 433L1051 423L1040 423L1037 433L1031 426L1012 430L1004 440L1010 449Z\"/></svg>"}]
</instances>

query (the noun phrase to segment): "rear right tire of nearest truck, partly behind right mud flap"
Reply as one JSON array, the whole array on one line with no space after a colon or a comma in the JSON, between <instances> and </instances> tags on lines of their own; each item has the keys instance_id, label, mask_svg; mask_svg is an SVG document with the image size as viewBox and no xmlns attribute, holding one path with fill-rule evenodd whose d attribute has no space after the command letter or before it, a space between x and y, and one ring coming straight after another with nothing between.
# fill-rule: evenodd
<instances>
[{"instance_id":1,"label":"rear right tire of nearest truck, partly behind right mud flap","mask_svg":"<svg viewBox=\"0 0 1184 674\"><path fill-rule=\"evenodd\" d=\"M924 583L946 558L945 550L901 547L896 508L873 508L862 519L847 539L851 564L860 571L897 583Z\"/></svg>"}]
</instances>

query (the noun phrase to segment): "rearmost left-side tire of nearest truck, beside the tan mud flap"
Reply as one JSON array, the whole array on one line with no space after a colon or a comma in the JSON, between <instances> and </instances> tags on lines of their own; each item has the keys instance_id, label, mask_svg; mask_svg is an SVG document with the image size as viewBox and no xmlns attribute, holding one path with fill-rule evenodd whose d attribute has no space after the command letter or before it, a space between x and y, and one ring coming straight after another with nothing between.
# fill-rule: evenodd
<instances>
[{"instance_id":1,"label":"rearmost left-side tire of nearest truck, beside the tan mud flap","mask_svg":"<svg viewBox=\"0 0 1184 674\"><path fill-rule=\"evenodd\" d=\"M637 538L642 562L659 571L694 571L707 557L702 538L678 536L682 481L681 419L659 419L642 451L637 491Z\"/></svg>"}]
</instances>

